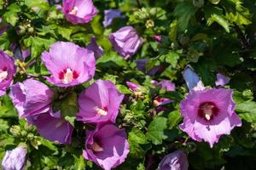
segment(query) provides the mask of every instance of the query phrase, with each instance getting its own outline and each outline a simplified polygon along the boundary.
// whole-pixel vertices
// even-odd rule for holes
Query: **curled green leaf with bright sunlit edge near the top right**
[[[211,26],[213,22],[217,22],[224,30],[230,32],[230,23],[224,18],[223,9],[207,6],[205,8],[205,16],[207,19],[207,26]]]

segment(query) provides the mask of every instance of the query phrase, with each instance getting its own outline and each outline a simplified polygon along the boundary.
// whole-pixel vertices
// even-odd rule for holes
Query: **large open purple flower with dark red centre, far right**
[[[183,115],[180,128],[192,139],[204,140],[212,147],[221,135],[241,126],[235,107],[231,89],[192,90],[180,104]]]

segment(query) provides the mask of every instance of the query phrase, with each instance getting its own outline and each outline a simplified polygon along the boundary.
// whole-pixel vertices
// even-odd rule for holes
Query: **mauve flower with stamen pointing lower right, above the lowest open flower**
[[[77,119],[83,122],[115,122],[124,99],[110,81],[97,80],[79,95]]]

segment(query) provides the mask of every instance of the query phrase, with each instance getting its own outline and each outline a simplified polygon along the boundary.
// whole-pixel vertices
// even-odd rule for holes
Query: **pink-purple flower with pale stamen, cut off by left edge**
[[[16,73],[15,60],[0,50],[0,96],[4,95],[7,88],[13,83]]]

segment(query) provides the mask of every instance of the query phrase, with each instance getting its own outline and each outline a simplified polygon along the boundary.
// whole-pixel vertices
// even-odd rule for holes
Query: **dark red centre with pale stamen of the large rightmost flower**
[[[214,116],[218,115],[218,107],[211,101],[203,102],[199,106],[198,115],[206,121],[211,121]]]

